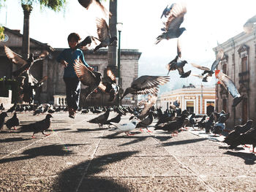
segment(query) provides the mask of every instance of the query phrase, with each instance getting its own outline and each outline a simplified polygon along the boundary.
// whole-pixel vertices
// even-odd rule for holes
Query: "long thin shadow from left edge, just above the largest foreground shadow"
[[[47,145],[41,147],[34,147],[29,150],[24,150],[21,156],[12,157],[12,158],[3,158],[0,159],[0,164],[4,164],[12,161],[20,161],[30,158],[36,158],[38,156],[64,156],[71,155],[72,150],[69,150],[69,147],[74,147],[78,145],[86,144],[64,144],[64,145]]]

